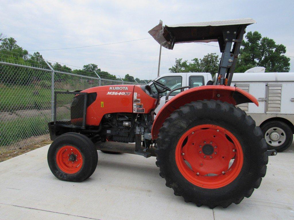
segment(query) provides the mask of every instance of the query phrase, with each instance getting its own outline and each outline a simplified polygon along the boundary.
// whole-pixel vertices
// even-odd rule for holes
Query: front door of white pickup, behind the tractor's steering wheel
[[[170,76],[163,76],[159,79],[156,79],[156,81],[167,85],[169,88],[171,89],[176,89],[182,86],[186,86],[186,74],[183,73],[172,73]],[[156,89],[153,85],[153,83],[150,85],[152,91],[154,93],[156,93]],[[176,90],[174,92],[172,92],[169,95],[169,99],[172,99],[176,94],[179,94],[181,91],[180,90]],[[155,109],[155,113],[157,114],[158,111],[162,108],[162,106],[165,104],[165,98],[166,98],[166,92],[165,93],[161,93],[161,98],[159,101],[159,105],[157,106],[157,108]],[[156,116],[155,116],[156,117]]]

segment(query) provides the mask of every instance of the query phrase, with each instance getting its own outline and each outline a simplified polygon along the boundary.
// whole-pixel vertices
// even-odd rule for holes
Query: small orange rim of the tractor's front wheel
[[[81,169],[83,157],[77,148],[66,145],[58,150],[56,163],[61,171],[73,174]]]

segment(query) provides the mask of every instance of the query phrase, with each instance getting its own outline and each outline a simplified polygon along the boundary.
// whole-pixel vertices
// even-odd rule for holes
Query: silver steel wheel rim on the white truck
[[[273,127],[265,132],[264,138],[270,146],[278,147],[285,143],[286,133],[282,128]]]

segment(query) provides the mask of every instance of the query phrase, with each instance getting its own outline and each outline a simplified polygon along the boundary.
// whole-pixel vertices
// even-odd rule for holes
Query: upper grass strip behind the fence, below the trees
[[[38,91],[39,94],[34,95],[34,91]],[[51,89],[35,86],[1,85],[0,87],[0,111],[49,109],[50,101]]]

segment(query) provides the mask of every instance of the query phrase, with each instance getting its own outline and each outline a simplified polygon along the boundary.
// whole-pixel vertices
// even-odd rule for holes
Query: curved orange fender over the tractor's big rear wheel
[[[170,99],[159,110],[152,125],[152,139],[155,140],[158,137],[159,129],[162,127],[163,122],[170,116],[171,113],[173,113],[173,111],[187,103],[191,103],[192,101],[204,99],[220,100],[233,105],[252,102],[258,106],[258,101],[253,95],[239,89],[238,87],[208,85],[187,89]]]

